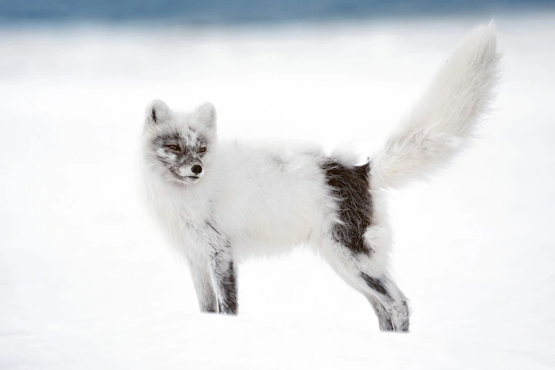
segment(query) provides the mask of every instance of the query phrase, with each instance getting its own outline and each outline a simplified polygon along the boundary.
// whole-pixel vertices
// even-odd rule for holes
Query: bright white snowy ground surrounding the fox
[[[241,266],[239,317],[199,314],[137,196],[151,99],[365,156],[475,22],[1,31],[0,368],[554,369],[555,15],[497,19],[483,138],[391,194],[409,335],[302,251]]]

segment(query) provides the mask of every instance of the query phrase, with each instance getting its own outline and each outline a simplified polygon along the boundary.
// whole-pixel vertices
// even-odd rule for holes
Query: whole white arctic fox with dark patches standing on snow
[[[148,203],[185,256],[201,312],[237,314],[237,264],[250,255],[314,249],[377,314],[409,330],[407,298],[388,270],[384,190],[425,179],[472,139],[497,81],[495,26],[469,33],[398,131],[364,165],[311,144],[216,141],[211,103],[146,110]]]

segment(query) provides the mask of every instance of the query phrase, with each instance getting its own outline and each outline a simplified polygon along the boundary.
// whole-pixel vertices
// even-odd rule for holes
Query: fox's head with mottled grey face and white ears
[[[197,183],[210,164],[216,136],[216,109],[204,103],[192,112],[173,112],[160,100],[146,108],[144,150],[148,166],[164,180]]]

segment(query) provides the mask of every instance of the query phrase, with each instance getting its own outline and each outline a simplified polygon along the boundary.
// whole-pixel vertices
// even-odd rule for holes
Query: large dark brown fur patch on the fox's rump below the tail
[[[354,253],[370,254],[372,250],[363,237],[372,220],[372,199],[368,191],[370,163],[348,167],[328,160],[321,167],[338,201],[341,224],[334,226],[335,239]]]

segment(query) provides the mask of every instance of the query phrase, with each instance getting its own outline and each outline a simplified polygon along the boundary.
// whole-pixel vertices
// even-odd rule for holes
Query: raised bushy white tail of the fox
[[[371,189],[425,179],[462,151],[493,100],[498,62],[495,25],[478,26],[373,157]]]

